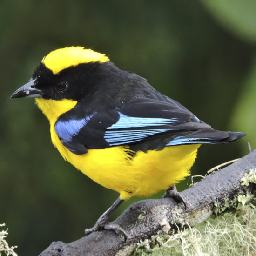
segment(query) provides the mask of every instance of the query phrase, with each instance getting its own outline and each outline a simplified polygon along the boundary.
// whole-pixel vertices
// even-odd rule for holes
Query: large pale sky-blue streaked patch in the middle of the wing
[[[180,122],[178,118],[148,118],[148,117],[133,117],[127,116],[120,112],[119,120],[108,127],[104,139],[109,143],[110,146],[116,146],[121,144],[128,144],[136,141],[141,141],[144,138],[163,133],[172,130],[170,126]],[[168,128],[147,128],[154,126],[169,126]],[[125,129],[129,128],[129,129]],[[144,128],[144,129],[130,129],[130,128]]]

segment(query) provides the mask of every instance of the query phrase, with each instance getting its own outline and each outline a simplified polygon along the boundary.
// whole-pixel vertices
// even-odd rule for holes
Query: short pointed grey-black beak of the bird
[[[32,97],[32,98],[41,98],[42,97],[42,91],[39,89],[36,89],[34,86],[34,80],[29,81],[22,87],[20,87],[18,90],[16,90],[10,99],[12,98],[24,98],[24,97]]]

